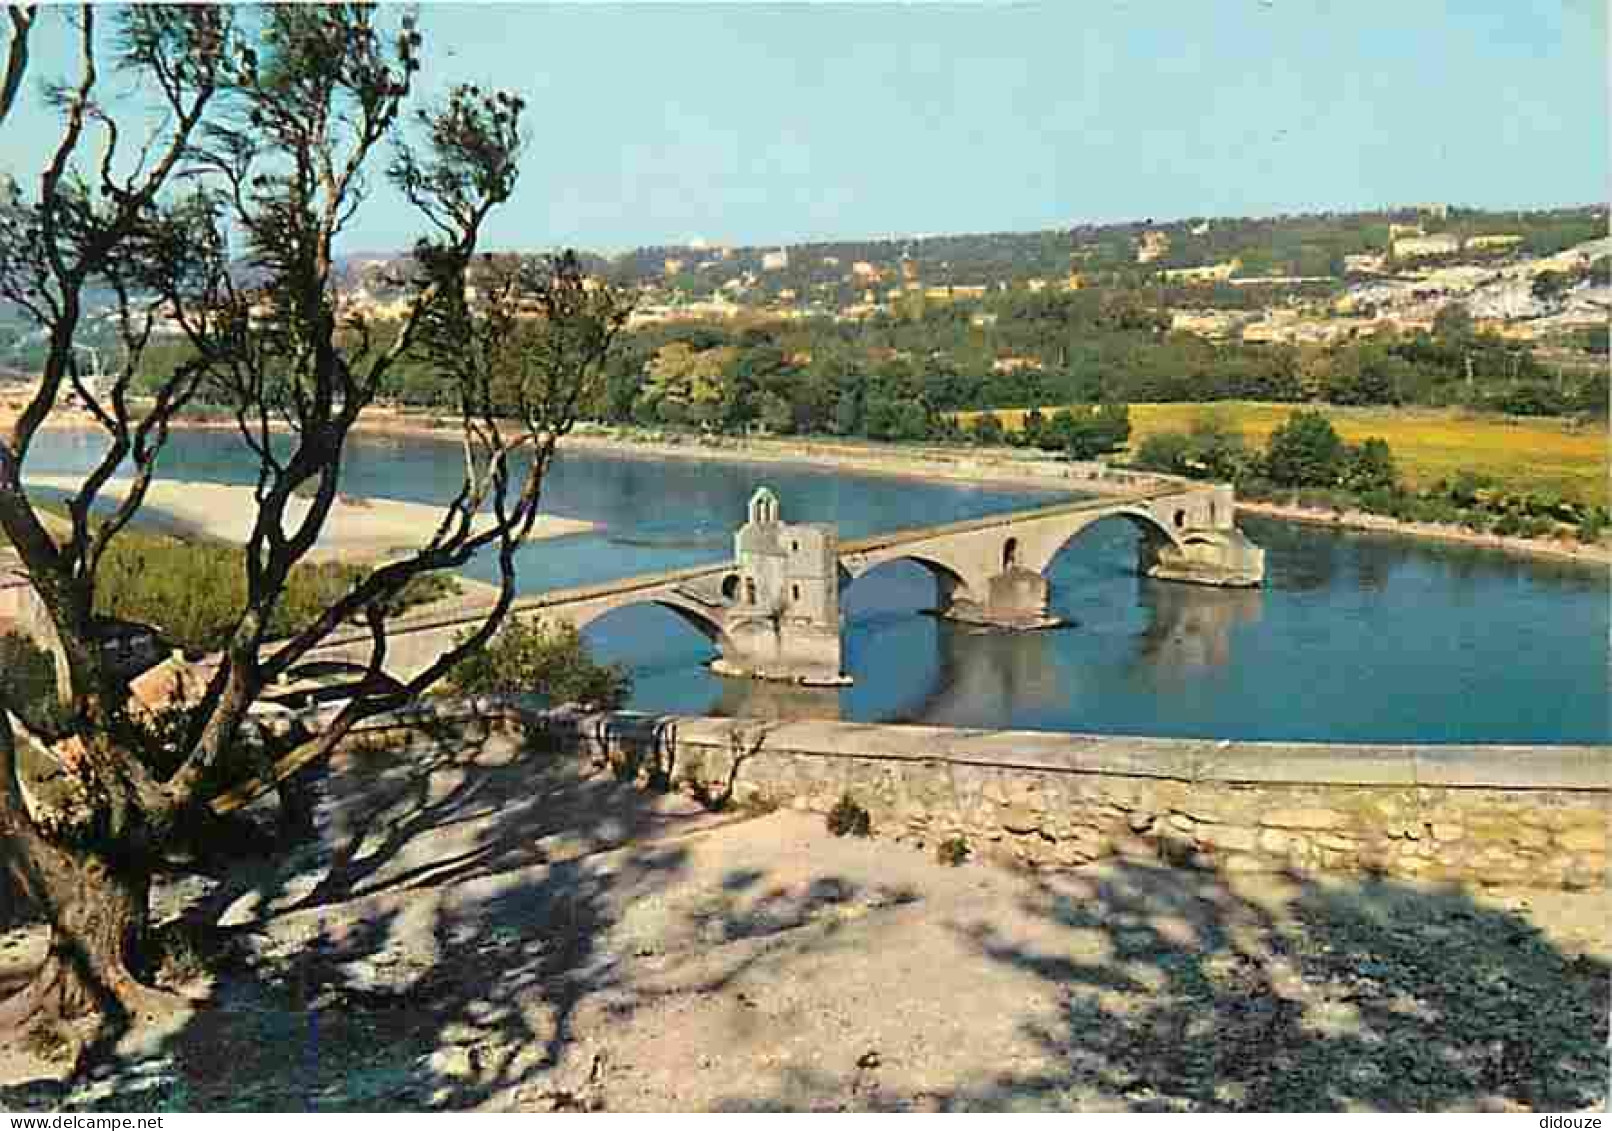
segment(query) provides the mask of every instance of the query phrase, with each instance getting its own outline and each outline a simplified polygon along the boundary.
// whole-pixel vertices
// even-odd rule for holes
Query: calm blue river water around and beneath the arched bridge
[[[87,437],[45,433],[29,470],[79,470]],[[174,437],[163,470],[250,482],[229,433]],[[430,440],[351,446],[353,495],[440,501],[456,448]],[[758,483],[783,517],[841,536],[1033,506],[1041,491],[845,475],[819,469],[564,454],[545,493],[555,514],[603,532],[522,551],[537,591],[725,559]],[[1001,635],[922,615],[933,582],[891,564],[845,593],[841,691],[722,680],[711,646],[654,607],[585,633],[627,662],[643,710],[825,715],[956,727],[1220,738],[1607,743],[1604,570],[1494,551],[1248,519],[1267,551],[1265,588],[1219,591],[1135,574],[1135,533],[1090,527],[1054,559],[1053,599],[1075,627]],[[488,570],[471,570],[490,575]]]

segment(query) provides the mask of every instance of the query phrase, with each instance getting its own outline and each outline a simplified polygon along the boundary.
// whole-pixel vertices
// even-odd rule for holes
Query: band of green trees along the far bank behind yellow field
[[[970,306],[917,319],[629,334],[588,417],[719,432],[927,438],[962,409],[1103,401],[1257,400],[1462,404],[1519,416],[1606,414],[1604,366],[1548,367],[1527,345],[1473,332],[1451,306],[1433,334],[1332,346],[1214,343],[1167,330],[1138,293],[1004,295],[995,324]],[[977,311],[974,311],[977,313]],[[448,388],[426,364],[395,367],[385,395],[435,406]]]

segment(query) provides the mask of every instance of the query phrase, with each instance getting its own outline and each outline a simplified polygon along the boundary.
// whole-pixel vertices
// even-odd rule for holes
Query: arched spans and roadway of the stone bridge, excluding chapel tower
[[[1046,612],[1041,574],[1085,527],[1122,517],[1143,533],[1141,569],[1156,577],[1209,585],[1257,585],[1264,553],[1233,525],[1230,487],[1169,487],[1124,496],[1070,499],[1049,506],[896,530],[838,543],[841,586],[891,561],[914,561],[937,582],[938,607],[959,619],[1035,627]],[[732,604],[735,562],[695,566],[596,585],[577,585],[519,598],[511,615],[542,617],[584,628],[632,604],[658,604],[680,615],[721,649]],[[1028,596],[1025,596],[1028,585]],[[1004,593],[1011,591],[1011,596]],[[392,622],[387,670],[409,678],[453,638],[480,624],[490,609],[477,601]],[[366,630],[340,632],[310,652],[310,661],[369,657]]]

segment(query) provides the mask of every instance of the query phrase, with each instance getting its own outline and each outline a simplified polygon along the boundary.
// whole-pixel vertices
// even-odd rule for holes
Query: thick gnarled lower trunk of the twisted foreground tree
[[[50,920],[50,951],[34,980],[0,1002],[0,1033],[39,1021],[134,1021],[174,999],[137,978],[150,918],[150,870],[29,830],[24,856]]]

